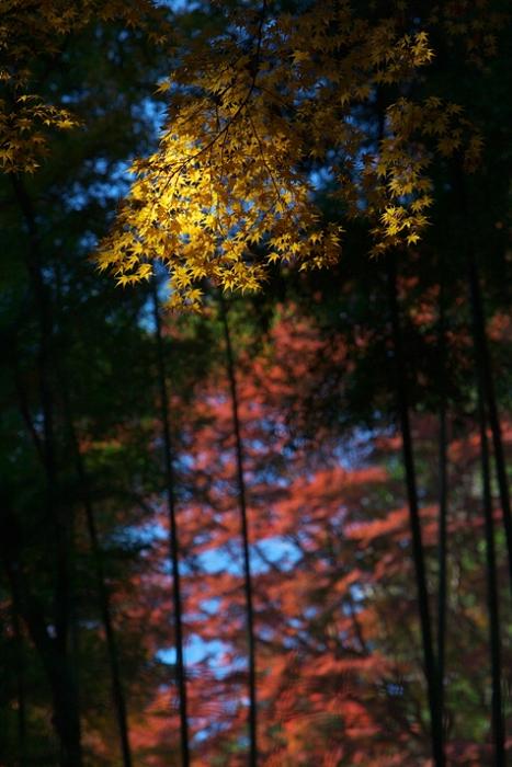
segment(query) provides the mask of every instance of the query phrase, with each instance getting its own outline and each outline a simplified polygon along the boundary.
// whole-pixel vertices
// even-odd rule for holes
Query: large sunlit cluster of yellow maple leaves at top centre
[[[244,9],[229,30],[160,85],[171,104],[160,146],[134,163],[98,256],[121,285],[163,262],[171,307],[198,308],[204,279],[255,290],[271,263],[338,259],[340,227],[322,224],[305,168],[312,160],[338,173],[330,156],[342,157],[338,181],[353,191],[345,171],[367,138],[354,107],[432,58],[423,32],[371,23],[348,2],[312,3],[298,16]]]

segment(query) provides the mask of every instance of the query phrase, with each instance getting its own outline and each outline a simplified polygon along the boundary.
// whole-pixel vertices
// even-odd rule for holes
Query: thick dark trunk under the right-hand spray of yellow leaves
[[[407,368],[403,355],[400,313],[398,308],[397,276],[394,253],[389,253],[387,255],[387,283],[391,316],[392,344],[395,353],[395,388],[397,397],[397,409],[400,419],[403,465],[406,469],[406,484],[409,505],[409,522],[411,529],[412,558],[414,562],[416,581],[418,588],[418,604],[420,611],[420,626],[423,645],[423,663],[431,720],[432,755],[435,767],[444,767],[445,758],[443,748],[442,720],[437,695],[439,676],[432,642],[432,623],[430,619],[429,595],[426,589],[426,574],[421,535],[421,518],[418,506],[414,458],[412,449],[411,428],[409,423],[409,402],[406,382]]]

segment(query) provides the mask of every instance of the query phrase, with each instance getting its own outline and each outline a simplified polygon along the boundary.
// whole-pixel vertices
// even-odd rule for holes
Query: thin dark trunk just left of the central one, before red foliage
[[[180,699],[180,741],[182,767],[190,765],[189,748],[189,717],[186,701],[186,677],[183,653],[183,618],[182,597],[180,582],[180,542],[178,535],[178,520],[175,512],[175,482],[173,450],[171,439],[171,424],[169,417],[169,393],[166,376],[166,357],[163,350],[162,323],[160,318],[160,306],[158,300],[158,287],[156,281],[152,283],[152,301],[155,333],[157,340],[157,375],[160,391],[160,419],[162,422],[163,436],[163,461],[166,473],[167,503],[169,511],[169,548],[172,572],[172,599],[174,608],[174,634],[177,648],[177,686]]]

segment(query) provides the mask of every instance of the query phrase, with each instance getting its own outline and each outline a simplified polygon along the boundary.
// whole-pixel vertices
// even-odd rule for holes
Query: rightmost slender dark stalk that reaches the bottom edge
[[[492,678],[492,737],[494,744],[496,767],[504,767],[504,728],[503,707],[501,700],[501,644],[500,644],[500,611],[498,600],[498,577],[496,569],[494,520],[492,516],[492,499],[490,482],[489,447],[487,444],[486,412],[483,392],[478,388],[478,421],[480,430],[481,477],[483,485],[483,519],[486,531],[486,564],[487,564],[487,607],[489,610],[489,642],[491,650]]]

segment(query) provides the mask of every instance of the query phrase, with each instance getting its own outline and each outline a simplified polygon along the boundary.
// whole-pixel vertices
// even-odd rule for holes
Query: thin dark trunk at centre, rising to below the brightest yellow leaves
[[[229,380],[231,399],[232,428],[235,433],[235,450],[237,458],[237,484],[238,501],[240,506],[241,539],[243,551],[243,589],[246,595],[247,617],[247,645],[249,655],[249,765],[258,764],[258,700],[257,700],[257,663],[255,663],[255,637],[254,637],[254,607],[253,587],[251,575],[251,559],[249,550],[249,524],[247,516],[247,491],[243,470],[243,447],[240,431],[240,409],[238,400],[237,377],[235,373],[235,359],[232,354],[231,335],[227,317],[226,305],[220,296],[220,314],[226,343],[226,368]]]

